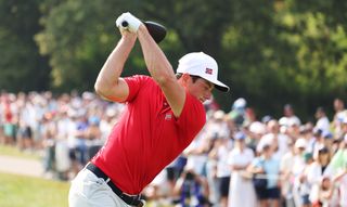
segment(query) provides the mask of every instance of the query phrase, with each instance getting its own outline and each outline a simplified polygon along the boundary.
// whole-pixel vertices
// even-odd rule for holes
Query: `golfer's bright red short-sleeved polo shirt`
[[[133,76],[126,81],[127,106],[92,163],[125,193],[139,194],[192,142],[206,115],[203,104],[187,93],[176,118],[151,77]]]

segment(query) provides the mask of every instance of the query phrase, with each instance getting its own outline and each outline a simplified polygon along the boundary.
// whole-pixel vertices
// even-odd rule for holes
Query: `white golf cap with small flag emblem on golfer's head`
[[[223,92],[229,91],[229,87],[217,79],[217,62],[204,52],[192,52],[182,56],[179,60],[177,73],[198,76],[214,83],[216,89]]]

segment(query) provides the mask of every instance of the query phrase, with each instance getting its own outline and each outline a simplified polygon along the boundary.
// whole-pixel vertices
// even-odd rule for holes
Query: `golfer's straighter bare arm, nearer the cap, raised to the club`
[[[143,24],[139,27],[138,38],[151,76],[162,88],[174,115],[179,117],[185,101],[183,87],[178,83],[171,64]]]

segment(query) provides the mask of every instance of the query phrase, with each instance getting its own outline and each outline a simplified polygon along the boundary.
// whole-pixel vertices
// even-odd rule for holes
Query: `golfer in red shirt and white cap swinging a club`
[[[211,56],[189,53],[180,59],[175,75],[140,20],[124,13],[116,23],[121,39],[103,65],[95,91],[125,103],[126,108],[105,145],[72,181],[69,207],[143,206],[141,191],[203,128],[203,102],[210,99],[214,88],[229,91],[218,81]],[[151,77],[121,78],[137,39]]]

